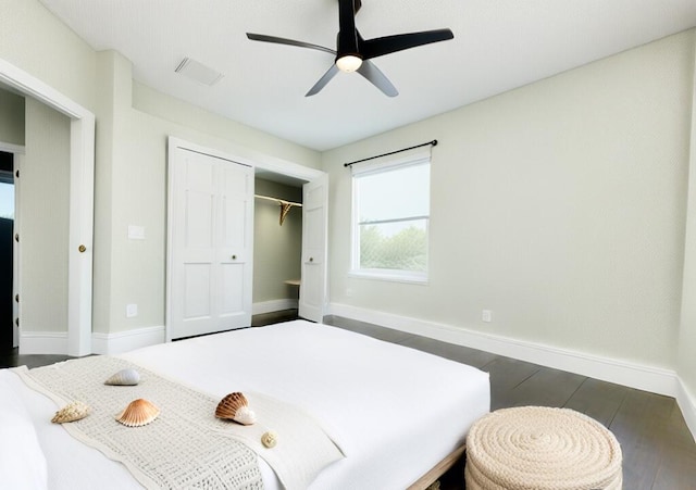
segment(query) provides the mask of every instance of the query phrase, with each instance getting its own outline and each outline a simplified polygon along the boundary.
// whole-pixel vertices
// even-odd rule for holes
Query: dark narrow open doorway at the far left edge
[[[14,325],[14,155],[0,151],[0,352],[15,347]]]

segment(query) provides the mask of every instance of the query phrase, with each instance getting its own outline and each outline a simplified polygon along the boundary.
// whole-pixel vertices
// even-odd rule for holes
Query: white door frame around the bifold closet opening
[[[249,165],[253,168],[260,168],[263,171],[272,172],[274,174],[286,175],[288,177],[294,177],[299,180],[304,180],[307,183],[316,180],[322,176],[326,176],[326,178],[328,178],[328,175],[326,172],[318,171],[316,168],[311,168],[295,162],[278,159],[276,156],[271,156],[260,152],[259,153],[254,152],[252,154],[249,154],[250,153],[249,150],[239,149],[239,150],[236,150],[234,153],[231,153],[227,151],[221,151],[213,148],[203,147],[201,145],[197,145],[174,136],[170,136],[167,138],[167,203],[166,203],[167,231],[166,231],[166,269],[165,269],[166,304],[165,304],[165,318],[164,318],[165,332],[166,332],[165,338],[167,342],[172,340],[172,337],[171,337],[172,335],[171,334],[171,322],[172,322],[172,285],[171,285],[172,256],[171,255],[172,254],[170,251],[170,243],[172,243],[172,235],[171,235],[172,226],[170,225],[169,219],[171,219],[171,216],[173,215],[173,202],[172,202],[172,192],[171,192],[172,172],[169,171],[169,168],[171,168],[169,159],[172,158],[176,148],[182,148],[189,151],[204,153],[204,154],[209,154],[211,156],[217,156],[224,160],[231,160],[233,162],[238,162],[244,165]],[[247,154],[247,156],[244,156],[241,153]],[[328,193],[326,193],[326,202],[324,204],[328,205]],[[326,230],[324,239],[326,241],[328,240],[328,230]],[[326,296],[326,291],[324,291],[324,296]],[[326,300],[327,298],[324,298],[324,303],[326,303]]]

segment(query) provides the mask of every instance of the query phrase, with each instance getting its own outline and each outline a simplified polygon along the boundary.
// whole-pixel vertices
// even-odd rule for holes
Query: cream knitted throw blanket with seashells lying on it
[[[114,373],[133,367],[137,386],[107,386]],[[91,356],[15,372],[59,407],[80,401],[91,407],[82,420],[63,424],[76,439],[123,463],[146,488],[262,489],[257,455],[286,489],[304,489],[340,450],[311,416],[270,397],[245,392],[257,423],[241,426],[215,418],[219,399],[109,356]],[[142,427],[126,427],[115,416],[133,400],[160,409]],[[277,444],[261,436],[273,430]]]

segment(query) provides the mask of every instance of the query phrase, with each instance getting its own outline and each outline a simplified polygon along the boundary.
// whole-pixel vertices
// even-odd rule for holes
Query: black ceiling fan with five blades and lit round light
[[[450,29],[435,29],[363,39],[356,28],[356,14],[361,7],[361,0],[338,0],[336,50],[309,42],[266,36],[264,34],[247,33],[247,37],[253,41],[315,49],[335,56],[334,64],[331,65],[328,71],[314,84],[304,97],[319,93],[339,71],[347,73],[358,72],[386,96],[396,97],[399,95],[396,87],[391,85],[389,79],[370,60],[396,51],[430,45],[431,42],[446,41],[455,37]]]

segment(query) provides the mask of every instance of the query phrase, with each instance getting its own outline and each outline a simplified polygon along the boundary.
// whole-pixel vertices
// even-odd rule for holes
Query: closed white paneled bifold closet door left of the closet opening
[[[170,159],[171,339],[251,324],[253,168],[184,148]]]

